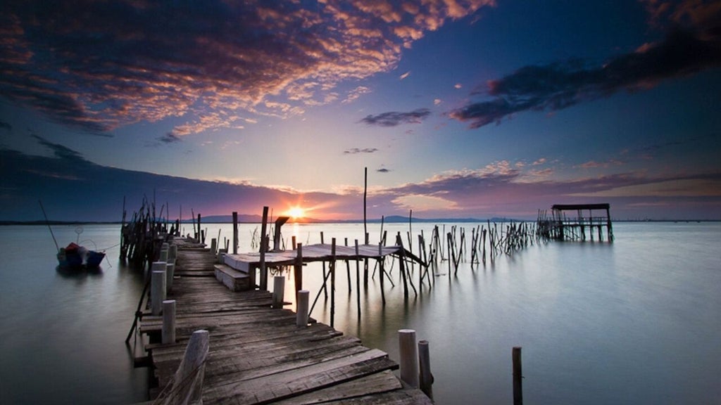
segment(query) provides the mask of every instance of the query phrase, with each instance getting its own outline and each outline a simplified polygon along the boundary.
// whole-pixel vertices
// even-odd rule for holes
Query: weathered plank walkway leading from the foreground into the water
[[[403,386],[385,352],[324,324],[298,328],[293,311],[271,308],[267,291],[226,288],[214,275],[215,259],[208,249],[179,249],[168,293],[177,305],[177,343],[146,345],[154,395],[172,381],[190,334],[205,329],[203,404],[432,404]],[[143,316],[141,333],[161,329],[161,317]]]

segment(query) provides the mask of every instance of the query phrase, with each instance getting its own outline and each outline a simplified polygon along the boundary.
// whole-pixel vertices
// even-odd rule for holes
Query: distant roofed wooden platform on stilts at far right
[[[595,231],[598,241],[603,241],[603,228],[606,228],[606,239],[614,241],[609,204],[555,204],[551,210],[551,218],[545,212],[539,212],[537,221],[539,233],[549,239],[593,241]],[[569,211],[575,215],[567,214]],[[601,214],[598,214],[599,211]]]

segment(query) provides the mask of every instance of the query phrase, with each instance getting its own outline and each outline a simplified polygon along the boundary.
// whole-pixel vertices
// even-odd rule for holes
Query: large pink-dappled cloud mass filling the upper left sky
[[[234,128],[239,110],[288,117],[332,102],[341,82],[392,71],[425,32],[493,4],[11,1],[0,94],[89,133],[169,117],[187,120],[178,136]]]

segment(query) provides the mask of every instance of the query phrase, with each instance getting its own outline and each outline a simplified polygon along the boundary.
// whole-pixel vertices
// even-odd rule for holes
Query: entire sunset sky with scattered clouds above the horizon
[[[721,220],[721,1],[39,1],[0,15],[0,221]],[[366,180],[367,171],[367,180]]]

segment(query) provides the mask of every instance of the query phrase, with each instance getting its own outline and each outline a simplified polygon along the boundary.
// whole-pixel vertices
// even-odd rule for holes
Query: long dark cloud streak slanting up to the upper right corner
[[[685,9],[679,6],[678,10]],[[473,93],[487,94],[490,99],[471,102],[448,115],[480,128],[501,123],[518,112],[562,110],[622,90],[650,89],[665,79],[717,68],[721,66],[721,31],[717,28],[721,7],[709,6],[704,11],[711,14],[689,18],[690,26],[676,25],[659,43],[644,44],[603,66],[588,66],[579,60],[524,66]]]

